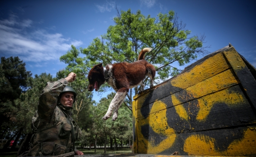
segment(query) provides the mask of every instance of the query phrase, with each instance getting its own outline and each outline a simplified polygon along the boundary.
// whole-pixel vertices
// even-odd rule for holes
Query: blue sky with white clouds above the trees
[[[256,67],[255,0],[1,0],[0,57],[18,56],[33,76],[55,77],[66,67],[60,56],[71,45],[86,48],[105,34],[114,25],[116,8],[151,17],[173,10],[191,31],[189,37],[205,35],[209,52],[231,43]]]

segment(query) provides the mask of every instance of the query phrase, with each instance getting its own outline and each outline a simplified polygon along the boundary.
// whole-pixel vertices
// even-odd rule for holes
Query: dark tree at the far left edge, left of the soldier
[[[20,130],[16,128],[16,112],[18,106],[15,100],[27,89],[27,80],[31,77],[30,71],[26,71],[25,63],[18,57],[1,57],[0,63],[0,138],[7,130]],[[13,129],[10,129],[13,128]],[[9,143],[8,143],[9,144]]]

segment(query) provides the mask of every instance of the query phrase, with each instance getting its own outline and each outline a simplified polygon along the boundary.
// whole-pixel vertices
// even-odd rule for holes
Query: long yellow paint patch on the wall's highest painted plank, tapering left
[[[214,75],[230,68],[222,53],[218,53],[203,63],[196,65],[188,72],[182,73],[172,79],[170,82],[173,86],[186,89],[194,84],[197,84],[205,79],[213,77]]]

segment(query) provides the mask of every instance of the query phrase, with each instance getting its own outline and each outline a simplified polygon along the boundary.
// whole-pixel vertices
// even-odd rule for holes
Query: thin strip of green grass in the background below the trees
[[[94,153],[94,149],[92,150],[80,150],[85,155],[95,155],[95,154],[104,154],[104,149],[96,149],[96,153]],[[129,148],[118,148],[118,150],[111,150],[107,149],[106,154],[125,154],[125,153],[132,153],[132,150]],[[0,152],[0,157],[16,157],[17,152]]]

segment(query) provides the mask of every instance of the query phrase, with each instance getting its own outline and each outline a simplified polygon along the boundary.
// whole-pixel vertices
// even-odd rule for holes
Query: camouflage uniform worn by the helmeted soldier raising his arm
[[[47,86],[39,97],[38,110],[32,118],[34,134],[31,137],[31,149],[27,156],[60,155],[73,152],[72,127],[66,117],[73,124],[75,140],[77,140],[79,127],[71,118],[71,111],[57,105],[60,103],[58,96],[66,85],[68,85],[66,79],[47,82]]]

